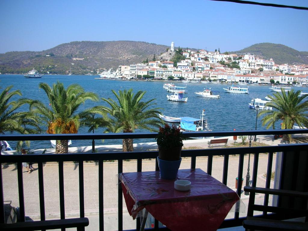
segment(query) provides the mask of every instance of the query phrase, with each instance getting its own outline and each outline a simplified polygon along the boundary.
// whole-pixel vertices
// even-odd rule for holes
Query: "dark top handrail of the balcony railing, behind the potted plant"
[[[242,130],[242,131],[211,131],[211,132],[184,132],[186,137],[212,137],[212,136],[248,136],[252,135],[280,135],[280,134],[307,134],[308,129],[268,129],[268,130]],[[76,134],[2,134],[0,140],[109,140],[109,139],[144,139],[155,138],[156,132],[132,133],[76,133]],[[26,138],[25,138],[26,137]],[[65,137],[65,138],[63,138]],[[86,139],[85,139],[86,137]]]

